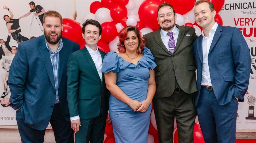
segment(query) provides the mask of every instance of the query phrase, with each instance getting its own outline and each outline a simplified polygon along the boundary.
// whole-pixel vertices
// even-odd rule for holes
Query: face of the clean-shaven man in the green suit
[[[85,33],[83,33],[83,38],[85,39],[86,45],[90,47],[96,46],[98,41],[101,39],[99,28],[91,24],[86,25]]]

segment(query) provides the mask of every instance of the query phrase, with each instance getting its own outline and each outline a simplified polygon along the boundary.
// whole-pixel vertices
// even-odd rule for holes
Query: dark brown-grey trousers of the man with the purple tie
[[[166,98],[153,98],[153,107],[159,142],[173,142],[174,116],[176,117],[179,143],[193,143],[196,119],[194,94],[181,91]]]

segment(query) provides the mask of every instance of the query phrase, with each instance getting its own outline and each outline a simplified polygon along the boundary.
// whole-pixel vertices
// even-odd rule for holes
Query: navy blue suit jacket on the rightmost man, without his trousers
[[[192,52],[197,68],[197,105],[202,81],[202,35],[194,41]],[[243,101],[249,84],[250,60],[249,48],[241,31],[218,25],[209,50],[208,64],[213,92],[219,105],[230,102],[232,96]]]

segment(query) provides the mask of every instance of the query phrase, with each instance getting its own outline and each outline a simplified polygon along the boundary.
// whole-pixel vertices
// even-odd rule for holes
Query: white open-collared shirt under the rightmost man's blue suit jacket
[[[215,22],[212,29],[209,31],[209,37],[204,36],[204,31],[202,31],[202,51],[203,51],[203,69],[202,69],[202,84],[201,85],[208,85],[212,86],[211,82],[211,76],[210,76],[210,70],[208,65],[208,54],[209,50],[212,44],[213,36],[216,32],[216,29],[218,27],[217,22]]]

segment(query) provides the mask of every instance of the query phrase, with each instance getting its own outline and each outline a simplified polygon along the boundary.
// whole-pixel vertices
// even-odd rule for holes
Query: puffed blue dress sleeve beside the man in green
[[[119,72],[119,58],[115,52],[109,52],[103,59],[102,62],[102,73],[108,72],[118,73]]]

